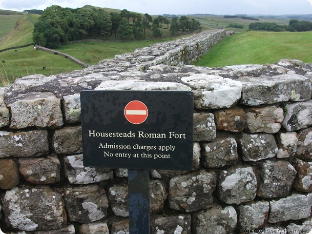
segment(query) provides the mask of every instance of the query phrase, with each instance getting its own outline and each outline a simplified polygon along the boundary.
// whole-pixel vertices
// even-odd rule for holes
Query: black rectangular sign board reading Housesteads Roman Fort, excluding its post
[[[191,170],[193,93],[82,91],[85,167]]]

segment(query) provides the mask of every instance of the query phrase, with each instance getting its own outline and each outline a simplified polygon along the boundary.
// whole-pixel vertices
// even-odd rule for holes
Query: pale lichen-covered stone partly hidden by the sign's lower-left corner
[[[83,155],[65,156],[64,165],[70,184],[90,184],[113,178],[112,169],[84,167]]]

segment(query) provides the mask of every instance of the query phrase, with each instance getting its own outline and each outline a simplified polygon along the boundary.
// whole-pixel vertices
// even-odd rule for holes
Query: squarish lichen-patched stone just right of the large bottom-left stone
[[[98,185],[65,188],[64,200],[71,222],[95,222],[107,215],[108,199],[104,189]]]

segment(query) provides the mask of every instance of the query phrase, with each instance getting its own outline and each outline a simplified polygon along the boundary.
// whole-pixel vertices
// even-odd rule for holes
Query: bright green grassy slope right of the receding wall
[[[312,31],[244,32],[226,37],[200,59],[197,66],[223,67],[235,64],[276,63],[299,59],[312,63]]]

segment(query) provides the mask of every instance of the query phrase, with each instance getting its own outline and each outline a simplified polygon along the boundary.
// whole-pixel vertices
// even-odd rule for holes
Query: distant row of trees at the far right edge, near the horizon
[[[290,31],[290,32],[304,32],[312,30],[312,22],[306,20],[290,20],[288,25],[279,25],[276,23],[250,23],[250,30],[266,30],[272,32],[282,32],[282,31]]]

